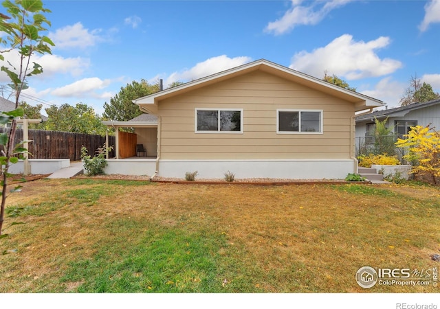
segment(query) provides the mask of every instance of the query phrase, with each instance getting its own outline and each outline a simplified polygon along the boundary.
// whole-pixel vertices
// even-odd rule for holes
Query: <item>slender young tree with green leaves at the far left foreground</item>
[[[5,124],[11,123],[11,128],[8,133],[0,135],[0,144],[4,147],[1,163],[1,207],[0,207],[0,235],[3,228],[3,218],[5,214],[6,193],[8,188],[8,173],[10,163],[16,163],[17,157],[22,156],[27,150],[15,145],[15,133],[17,130],[17,117],[23,117],[23,109],[19,108],[20,95],[23,89],[28,88],[27,80],[29,77],[43,72],[43,67],[36,62],[30,60],[32,54],[51,54],[51,47],[54,43],[47,36],[41,35],[47,29],[45,25],[50,25],[47,21],[45,13],[50,12],[43,8],[41,0],[15,0],[14,3],[5,0],[2,3],[3,8],[6,9],[6,14],[0,14],[0,36],[1,45],[6,46],[5,50],[0,53],[0,60],[5,61],[3,54],[10,54],[12,51],[18,53],[18,65],[15,61],[8,60],[8,65],[2,65],[3,71],[10,80],[10,87],[14,89],[15,93],[15,110],[2,113],[0,115],[0,122]]]

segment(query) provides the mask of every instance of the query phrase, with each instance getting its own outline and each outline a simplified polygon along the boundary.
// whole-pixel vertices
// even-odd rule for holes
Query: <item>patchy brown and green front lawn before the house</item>
[[[0,292],[438,292],[366,290],[355,273],[438,267],[439,197],[410,184],[33,181],[8,198]]]

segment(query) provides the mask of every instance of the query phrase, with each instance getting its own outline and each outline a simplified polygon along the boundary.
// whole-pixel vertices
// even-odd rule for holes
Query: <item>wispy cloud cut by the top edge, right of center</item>
[[[272,21],[265,27],[265,32],[276,35],[293,30],[296,25],[316,25],[331,12],[353,0],[313,1],[309,5],[300,5],[303,1],[292,0],[292,8],[287,10],[281,19]],[[323,4],[324,3],[324,4]],[[323,4],[323,5],[322,5]]]

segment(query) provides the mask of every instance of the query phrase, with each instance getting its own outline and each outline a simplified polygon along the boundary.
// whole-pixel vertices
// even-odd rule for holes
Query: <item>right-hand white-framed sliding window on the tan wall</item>
[[[322,111],[277,110],[276,133],[322,133]]]

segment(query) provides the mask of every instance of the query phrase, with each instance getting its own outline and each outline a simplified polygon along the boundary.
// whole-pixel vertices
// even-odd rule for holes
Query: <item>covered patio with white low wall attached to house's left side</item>
[[[115,128],[115,157],[107,158],[106,174],[130,174],[153,176],[157,168],[157,117],[142,114],[126,122],[102,122]],[[134,133],[120,128],[133,128]],[[142,145],[145,152],[138,152]]]

